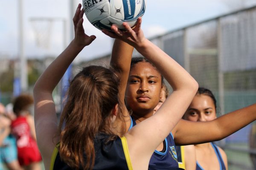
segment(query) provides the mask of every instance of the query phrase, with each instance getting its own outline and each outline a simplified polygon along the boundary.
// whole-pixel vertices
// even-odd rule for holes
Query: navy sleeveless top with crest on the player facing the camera
[[[135,119],[131,116],[131,127],[136,125]],[[129,129],[129,130],[130,130]],[[163,151],[155,150],[149,161],[148,170],[183,170],[179,168],[175,142],[170,133],[164,140]]]

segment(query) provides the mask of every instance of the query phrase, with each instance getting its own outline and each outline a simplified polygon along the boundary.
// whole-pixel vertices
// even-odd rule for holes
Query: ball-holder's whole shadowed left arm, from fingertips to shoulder
[[[79,4],[73,18],[75,38],[70,45],[49,65],[34,87],[35,132],[38,147],[45,165],[49,165],[52,150],[58,142],[58,126],[52,91],[61,80],[68,66],[77,54],[96,37],[84,34],[83,14]],[[47,161],[47,162],[46,162]]]

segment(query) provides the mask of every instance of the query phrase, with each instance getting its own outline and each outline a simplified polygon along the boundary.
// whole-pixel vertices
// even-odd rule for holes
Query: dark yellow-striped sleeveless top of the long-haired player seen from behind
[[[93,170],[132,170],[126,138],[124,136],[122,138],[118,137],[107,144],[105,144],[105,139],[108,139],[108,135],[101,134],[94,141],[96,155]],[[58,146],[59,144],[53,150],[49,170],[73,170],[61,160]],[[80,170],[82,170],[82,167]]]

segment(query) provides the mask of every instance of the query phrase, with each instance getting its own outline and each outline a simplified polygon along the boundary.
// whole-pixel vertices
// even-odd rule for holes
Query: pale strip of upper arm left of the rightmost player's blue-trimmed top
[[[195,146],[193,144],[184,146],[184,159],[185,159],[186,170],[195,170],[196,156],[195,156]]]

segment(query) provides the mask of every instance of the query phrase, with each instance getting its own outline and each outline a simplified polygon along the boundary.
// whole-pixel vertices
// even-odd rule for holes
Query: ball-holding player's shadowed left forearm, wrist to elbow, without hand
[[[70,42],[68,47],[48,66],[44,73],[39,77],[35,84],[34,92],[52,92],[65,71],[76,58],[82,46],[76,45],[74,41]]]

